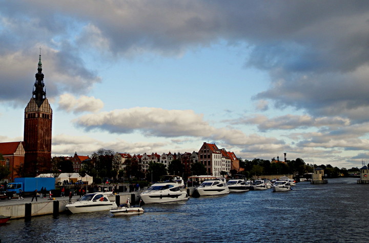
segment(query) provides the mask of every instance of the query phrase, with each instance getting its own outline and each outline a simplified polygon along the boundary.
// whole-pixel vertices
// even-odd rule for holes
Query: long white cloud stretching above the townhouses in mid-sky
[[[87,114],[75,120],[85,130],[100,129],[110,133],[141,131],[148,136],[209,136],[215,129],[191,110],[164,110],[135,107]]]

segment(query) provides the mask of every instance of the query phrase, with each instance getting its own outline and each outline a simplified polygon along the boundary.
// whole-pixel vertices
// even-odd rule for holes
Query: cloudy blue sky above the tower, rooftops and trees
[[[0,142],[23,140],[41,52],[52,156],[207,142],[249,160],[367,164],[367,1],[0,4]]]

